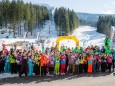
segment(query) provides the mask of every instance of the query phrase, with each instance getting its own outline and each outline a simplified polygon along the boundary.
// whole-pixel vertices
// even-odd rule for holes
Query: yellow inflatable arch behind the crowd
[[[73,41],[76,42],[76,47],[80,48],[79,40],[75,36],[60,36],[56,40],[56,47],[57,47],[57,49],[60,48],[60,41],[61,40],[73,40]]]

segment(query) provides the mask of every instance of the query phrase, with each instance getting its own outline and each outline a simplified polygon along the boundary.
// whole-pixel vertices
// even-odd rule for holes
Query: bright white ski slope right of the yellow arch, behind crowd
[[[97,45],[103,46],[105,35],[96,32],[95,27],[80,26],[72,35],[76,36],[80,40],[81,46]]]

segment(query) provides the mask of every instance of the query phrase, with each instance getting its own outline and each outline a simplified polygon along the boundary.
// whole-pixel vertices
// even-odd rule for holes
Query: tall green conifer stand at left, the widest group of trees
[[[23,0],[2,0],[0,2],[0,25],[12,26],[13,34],[21,35],[21,25],[24,24],[24,30],[31,32],[35,27],[43,26],[45,20],[49,20],[49,11],[47,7],[30,3],[24,3]]]

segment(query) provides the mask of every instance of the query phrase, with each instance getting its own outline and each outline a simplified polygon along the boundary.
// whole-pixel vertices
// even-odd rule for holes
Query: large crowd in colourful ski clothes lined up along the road
[[[105,39],[106,40],[106,39]],[[83,49],[69,49],[62,46],[60,50],[47,48],[37,51],[33,47],[26,50],[6,47],[0,51],[0,73],[18,73],[25,76],[71,75],[82,73],[112,72],[115,67],[115,50],[110,49],[105,41],[105,48],[88,46]]]

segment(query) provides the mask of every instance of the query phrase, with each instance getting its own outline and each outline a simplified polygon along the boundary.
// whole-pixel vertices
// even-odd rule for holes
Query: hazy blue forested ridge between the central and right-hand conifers
[[[96,23],[98,21],[99,16],[108,16],[109,14],[91,14],[91,13],[76,13],[79,22],[81,25],[90,25],[90,26],[96,26]],[[112,14],[110,16],[115,16],[115,14]]]

